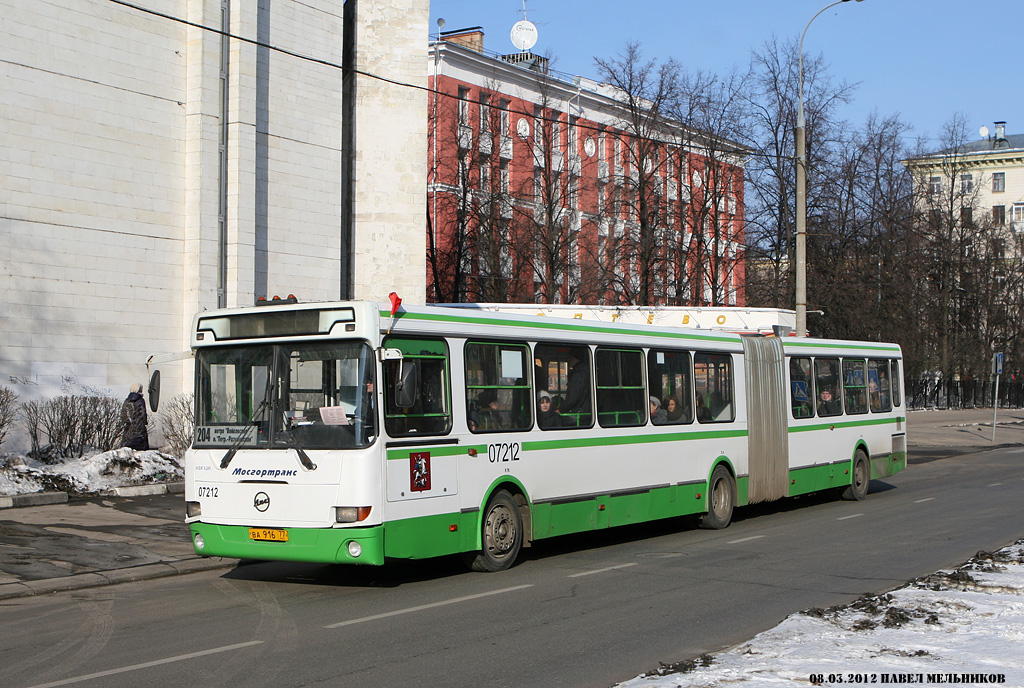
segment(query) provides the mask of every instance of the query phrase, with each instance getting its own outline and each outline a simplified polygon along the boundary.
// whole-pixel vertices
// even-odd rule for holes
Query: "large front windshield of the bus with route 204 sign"
[[[209,348],[196,364],[197,448],[359,448],[377,435],[364,342]]]

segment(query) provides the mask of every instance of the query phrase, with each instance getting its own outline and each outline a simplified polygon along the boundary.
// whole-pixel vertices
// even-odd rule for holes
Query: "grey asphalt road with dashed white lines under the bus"
[[[605,688],[1014,542],[1022,486],[1024,447],[1002,447],[913,465],[860,503],[544,542],[498,574],[253,563],[11,599],[0,685]]]

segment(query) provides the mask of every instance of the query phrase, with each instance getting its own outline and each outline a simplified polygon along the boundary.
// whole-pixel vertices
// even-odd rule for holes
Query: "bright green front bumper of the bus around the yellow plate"
[[[384,526],[286,528],[287,542],[261,542],[244,525],[191,523],[193,548],[204,557],[308,561],[325,564],[384,563]],[[200,547],[202,544],[202,547]]]

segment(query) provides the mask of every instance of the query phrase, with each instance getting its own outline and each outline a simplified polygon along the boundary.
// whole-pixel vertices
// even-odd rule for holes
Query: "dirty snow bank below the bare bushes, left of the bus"
[[[177,458],[128,447],[46,464],[22,456],[0,457],[0,497],[39,491],[99,494],[126,485],[183,478]]]

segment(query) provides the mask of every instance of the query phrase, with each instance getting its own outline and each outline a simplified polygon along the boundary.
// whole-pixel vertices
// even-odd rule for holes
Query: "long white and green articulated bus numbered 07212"
[[[364,302],[196,316],[201,555],[512,565],[543,538],[906,466],[894,344]]]

